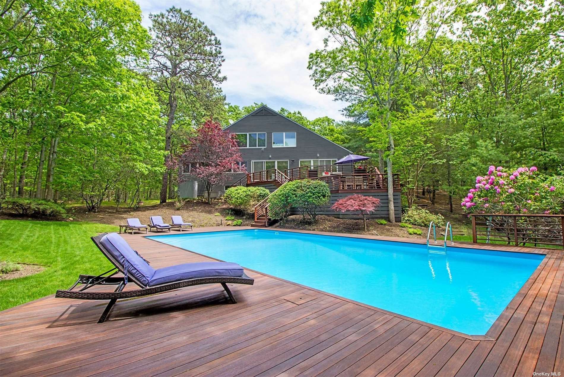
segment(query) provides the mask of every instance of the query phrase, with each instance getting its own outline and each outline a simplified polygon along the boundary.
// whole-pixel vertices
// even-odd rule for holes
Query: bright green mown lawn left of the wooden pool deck
[[[96,275],[112,268],[90,237],[117,230],[96,223],[0,220],[0,261],[45,267],[31,276],[0,281],[0,310],[67,289],[81,273]]]

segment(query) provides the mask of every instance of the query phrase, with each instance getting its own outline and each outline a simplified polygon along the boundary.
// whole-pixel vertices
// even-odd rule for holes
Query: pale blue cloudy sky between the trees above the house
[[[225,61],[222,84],[233,105],[266,103],[279,110],[299,110],[310,119],[345,119],[345,103],[316,91],[309,78],[310,52],[323,48],[323,30],[311,25],[318,15],[317,0],[137,0],[143,24],[149,14],[171,6],[190,10],[222,43]]]

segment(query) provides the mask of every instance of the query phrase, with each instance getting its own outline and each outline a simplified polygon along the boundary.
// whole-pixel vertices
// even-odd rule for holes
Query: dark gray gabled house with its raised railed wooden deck
[[[246,167],[247,172],[228,173],[229,178],[214,188],[213,196],[221,196],[232,185],[260,185],[272,192],[287,180],[322,179],[331,188],[331,204],[355,193],[374,196],[380,199],[381,205],[369,217],[387,218],[386,176],[374,167],[333,165],[338,159],[352,153],[341,145],[266,106],[233,122],[226,130],[236,135],[243,157],[241,165]],[[189,174],[188,171],[184,173]],[[181,196],[186,196],[183,192],[188,192],[187,185],[190,183],[180,185]],[[400,188],[395,175],[394,188],[395,217],[399,220]],[[205,194],[202,184],[198,185],[197,194]],[[329,207],[322,214],[341,218],[359,216],[334,212]],[[267,223],[266,219],[263,220]]]

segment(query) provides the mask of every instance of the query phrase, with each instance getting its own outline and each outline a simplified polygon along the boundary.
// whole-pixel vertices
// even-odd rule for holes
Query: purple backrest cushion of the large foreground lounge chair
[[[125,266],[125,259],[127,258],[127,274],[134,276],[144,285],[148,285],[155,274],[155,269],[141,258],[135,250],[131,249],[125,239],[117,233],[109,233],[100,239],[100,243],[122,265],[122,268]]]

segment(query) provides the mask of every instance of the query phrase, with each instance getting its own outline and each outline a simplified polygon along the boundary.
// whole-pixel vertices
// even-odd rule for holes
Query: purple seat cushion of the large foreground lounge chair
[[[155,271],[149,286],[187,280],[198,277],[243,276],[243,267],[229,262],[196,262],[159,268]]]

